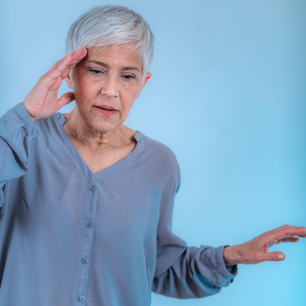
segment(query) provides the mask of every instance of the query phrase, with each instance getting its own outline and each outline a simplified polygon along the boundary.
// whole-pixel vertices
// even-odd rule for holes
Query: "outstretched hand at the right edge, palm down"
[[[284,253],[269,252],[270,246],[281,242],[296,242],[306,238],[306,228],[284,225],[242,244],[225,247],[223,260],[227,266],[238,263],[253,264],[266,261],[279,262],[285,259]]]

